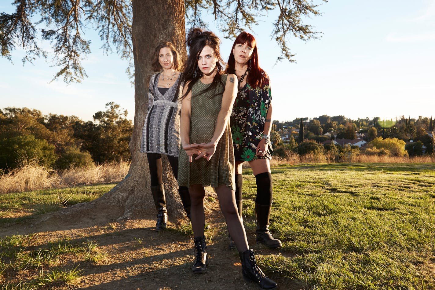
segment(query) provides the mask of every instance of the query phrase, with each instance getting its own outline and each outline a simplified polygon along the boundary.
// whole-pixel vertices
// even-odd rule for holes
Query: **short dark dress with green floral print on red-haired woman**
[[[230,118],[234,160],[236,162],[272,158],[273,151],[270,141],[268,142],[268,152],[264,156],[255,155],[261,134],[264,131],[271,99],[271,89],[267,76],[264,76],[261,88],[252,88],[247,83],[238,91]]]

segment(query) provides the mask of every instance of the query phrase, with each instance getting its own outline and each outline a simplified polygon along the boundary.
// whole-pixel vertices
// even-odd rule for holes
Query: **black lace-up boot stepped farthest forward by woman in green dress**
[[[278,284],[275,283],[274,280],[266,277],[263,271],[261,271],[260,267],[257,266],[255,254],[252,249],[239,252],[239,255],[242,263],[242,273],[244,280],[256,283],[261,289],[276,289]]]

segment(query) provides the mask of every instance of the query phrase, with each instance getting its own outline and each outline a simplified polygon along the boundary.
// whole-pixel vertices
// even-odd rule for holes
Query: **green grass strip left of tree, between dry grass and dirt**
[[[65,206],[88,202],[102,196],[113,187],[114,184],[100,184],[2,194],[0,224],[19,222],[34,215],[57,211]]]

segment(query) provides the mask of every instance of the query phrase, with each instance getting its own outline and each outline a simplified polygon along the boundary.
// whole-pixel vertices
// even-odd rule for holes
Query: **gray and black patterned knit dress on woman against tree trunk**
[[[142,128],[141,152],[161,153],[178,157],[180,150],[180,113],[178,98],[183,93],[180,76],[174,85],[161,94],[157,89],[160,74],[150,78],[148,112]]]

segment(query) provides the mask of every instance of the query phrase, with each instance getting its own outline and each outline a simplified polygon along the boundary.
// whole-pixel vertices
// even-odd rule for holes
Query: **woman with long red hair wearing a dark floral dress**
[[[257,183],[255,216],[256,241],[269,248],[282,246],[269,232],[272,207],[272,175],[270,160],[273,155],[271,132],[271,89],[269,77],[258,65],[255,37],[242,32],[234,40],[226,74],[236,74],[238,94],[234,101],[230,124],[234,145],[235,192],[239,215],[242,215],[242,164],[249,162]],[[231,240],[230,248],[234,249]]]

